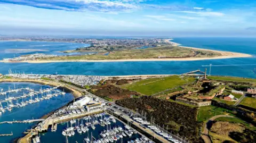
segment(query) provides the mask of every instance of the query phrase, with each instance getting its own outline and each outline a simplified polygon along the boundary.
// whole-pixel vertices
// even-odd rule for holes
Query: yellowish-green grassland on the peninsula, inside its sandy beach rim
[[[201,51],[198,49],[183,48],[177,46],[162,46],[146,49],[129,49],[123,51],[110,52],[108,55],[82,55],[82,56],[60,56],[42,58],[41,60],[125,60],[125,59],[147,59],[158,58],[186,58],[186,57],[214,57],[220,53],[211,51]]]

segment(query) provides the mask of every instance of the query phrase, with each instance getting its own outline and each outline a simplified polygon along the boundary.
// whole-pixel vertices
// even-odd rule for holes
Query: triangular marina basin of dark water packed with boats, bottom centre
[[[97,118],[99,123],[87,122],[89,119]],[[82,119],[71,120],[73,123],[63,122],[58,124],[58,129],[55,132],[39,133],[41,135],[41,142],[47,141],[47,137],[58,137],[54,142],[153,142],[147,137],[142,136],[136,130],[116,120],[114,117],[106,115],[105,113],[95,114],[93,116],[86,116]],[[107,122],[104,126],[100,122]]]

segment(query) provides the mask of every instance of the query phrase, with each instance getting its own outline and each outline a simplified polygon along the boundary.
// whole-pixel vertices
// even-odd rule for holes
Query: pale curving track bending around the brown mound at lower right
[[[204,131],[202,133],[202,138],[204,140],[205,143],[211,143],[211,138],[209,136],[209,130],[210,130],[210,127],[209,124],[211,124],[212,121],[214,121],[215,119],[219,118],[219,117],[234,117],[234,116],[230,116],[230,115],[217,115],[217,116],[213,116],[211,117],[207,123],[205,124],[205,127],[204,127]]]

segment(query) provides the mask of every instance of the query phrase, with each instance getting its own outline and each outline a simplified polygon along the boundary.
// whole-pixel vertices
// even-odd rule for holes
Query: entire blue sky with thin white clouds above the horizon
[[[256,37],[256,0],[0,0],[0,35]]]

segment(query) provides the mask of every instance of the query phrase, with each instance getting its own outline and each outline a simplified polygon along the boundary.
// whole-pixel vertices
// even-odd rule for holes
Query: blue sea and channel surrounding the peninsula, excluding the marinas
[[[174,42],[183,46],[198,48],[217,49],[221,51],[241,52],[256,55],[256,38],[174,38]],[[43,42],[44,43],[44,42]],[[27,44],[27,46],[26,46]],[[29,47],[41,45],[42,42],[9,41],[0,43],[1,52],[15,45]],[[60,45],[60,43],[48,43],[48,45]],[[74,45],[51,46],[50,51],[62,51],[63,49],[74,49]],[[74,44],[74,43],[72,43]],[[77,47],[81,45],[78,44]],[[38,52],[40,53],[40,52]],[[11,54],[12,55],[12,54]],[[0,54],[0,58],[10,54]],[[12,56],[13,57],[13,56]],[[202,65],[212,66],[211,74],[230,75],[239,77],[256,78],[256,58],[229,58],[221,60],[203,61],[164,61],[164,62],[63,62],[63,63],[0,63],[0,73],[7,74],[8,70],[22,71],[25,73],[47,73],[52,74],[81,74],[81,75],[138,75],[138,74],[181,74],[192,70],[201,69]],[[134,68],[135,67],[135,68]]]

